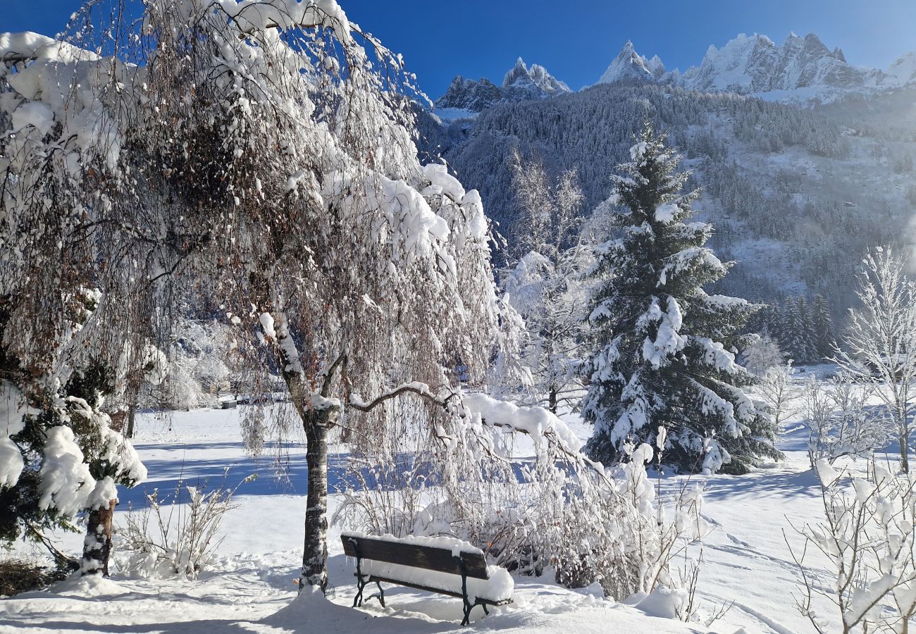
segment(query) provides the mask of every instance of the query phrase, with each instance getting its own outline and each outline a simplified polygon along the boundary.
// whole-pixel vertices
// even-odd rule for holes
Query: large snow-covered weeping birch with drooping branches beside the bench
[[[411,76],[333,0],[153,0],[141,13],[106,30],[87,5],[69,43],[5,36],[21,67],[7,78],[13,125],[79,150],[60,164],[92,202],[72,231],[110,227],[143,247],[124,266],[158,293],[147,316],[209,295],[245,360],[282,377],[291,418],[275,424],[297,421],[307,444],[301,581],[323,589],[329,432],[371,445],[393,402],[415,399],[453,443],[458,417],[434,394],[455,359],[485,372],[496,296],[480,197],[420,165]],[[23,200],[46,188],[29,178]],[[247,426],[254,450],[267,431]]]

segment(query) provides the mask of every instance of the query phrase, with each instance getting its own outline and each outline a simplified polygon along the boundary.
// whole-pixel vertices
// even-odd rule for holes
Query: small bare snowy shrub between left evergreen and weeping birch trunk
[[[234,488],[222,486],[208,491],[206,482],[197,486],[180,481],[167,497],[159,498],[158,489],[147,495],[148,507],[131,510],[118,531],[118,545],[130,553],[118,565],[132,576],[183,576],[196,579],[211,562],[219,546],[220,525],[229,510],[237,508],[233,496],[248,476]]]

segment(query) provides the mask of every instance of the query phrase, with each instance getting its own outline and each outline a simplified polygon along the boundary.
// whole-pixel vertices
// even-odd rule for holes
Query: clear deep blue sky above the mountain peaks
[[[0,31],[52,35],[80,0],[0,0]],[[777,43],[817,33],[852,64],[886,68],[916,50],[916,0],[341,0],[352,20],[404,54],[435,98],[454,75],[501,82],[518,56],[573,89],[594,83],[627,39],[668,68],[699,63],[738,33]]]

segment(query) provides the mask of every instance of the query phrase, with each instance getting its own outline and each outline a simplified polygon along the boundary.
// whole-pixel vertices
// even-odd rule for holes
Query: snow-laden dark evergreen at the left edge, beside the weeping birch
[[[71,326],[82,327],[96,303],[92,292],[72,297]],[[114,373],[88,362],[64,386],[32,377],[3,344],[9,326],[9,313],[0,308],[0,545],[25,538],[44,544],[59,567],[108,574],[117,486],[134,486],[147,474],[101,410]],[[88,519],[77,564],[47,533],[77,530],[81,514]]]

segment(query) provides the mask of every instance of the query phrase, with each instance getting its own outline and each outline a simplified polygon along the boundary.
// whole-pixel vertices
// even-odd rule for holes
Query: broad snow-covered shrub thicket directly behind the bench
[[[598,582],[618,599],[678,585],[673,559],[706,530],[702,493],[661,498],[646,471],[652,447],[630,447],[627,463],[605,469],[549,410],[459,398],[463,428],[442,430],[450,454],[419,437],[391,439],[416,451],[416,462],[367,460],[335,520],[374,533],[452,535],[519,574],[551,571],[572,587]],[[514,457],[532,450],[533,461]]]

